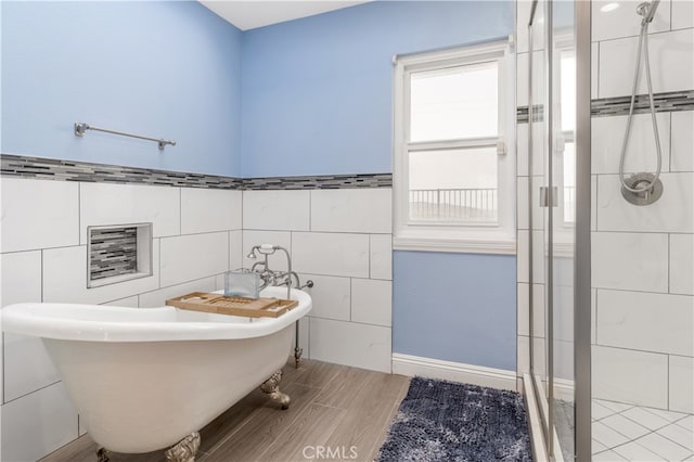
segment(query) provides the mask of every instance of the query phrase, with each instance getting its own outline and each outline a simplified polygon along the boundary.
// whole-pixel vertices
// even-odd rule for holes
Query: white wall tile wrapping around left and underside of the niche
[[[43,301],[102,304],[159,286],[159,245],[153,240],[153,274],[118,284],[87,288],[87,246],[49,248],[43,251]]]

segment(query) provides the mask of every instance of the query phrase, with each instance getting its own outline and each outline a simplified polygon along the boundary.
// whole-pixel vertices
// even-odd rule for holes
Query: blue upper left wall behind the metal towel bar
[[[2,1],[2,152],[241,175],[241,31],[194,1]],[[170,138],[73,131],[75,121]]]

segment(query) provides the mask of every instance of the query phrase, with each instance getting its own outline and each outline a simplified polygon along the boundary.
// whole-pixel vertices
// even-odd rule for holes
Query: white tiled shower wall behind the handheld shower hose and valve
[[[612,0],[609,1],[612,2]],[[629,97],[638,3],[593,1],[593,98]],[[656,93],[694,90],[693,2],[663,0],[650,26]],[[638,94],[646,93],[643,61]],[[692,412],[694,396],[694,112],[657,113],[664,193],[627,203],[618,179],[626,116],[592,119],[593,393],[635,406]],[[651,115],[634,115],[626,170],[655,171]],[[642,444],[643,438],[639,439]],[[691,452],[691,451],[690,451]],[[666,454],[660,453],[661,457]],[[640,457],[644,457],[641,454]]]

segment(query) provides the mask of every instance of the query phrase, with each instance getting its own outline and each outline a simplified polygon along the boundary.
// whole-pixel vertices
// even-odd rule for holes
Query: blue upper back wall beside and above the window
[[[512,1],[378,1],[244,33],[244,177],[391,171],[395,54],[513,33]]]

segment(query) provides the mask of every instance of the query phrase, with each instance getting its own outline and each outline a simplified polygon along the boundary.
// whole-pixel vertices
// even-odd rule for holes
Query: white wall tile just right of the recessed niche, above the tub
[[[162,287],[215,275],[229,270],[229,234],[162,238],[160,254]]]

